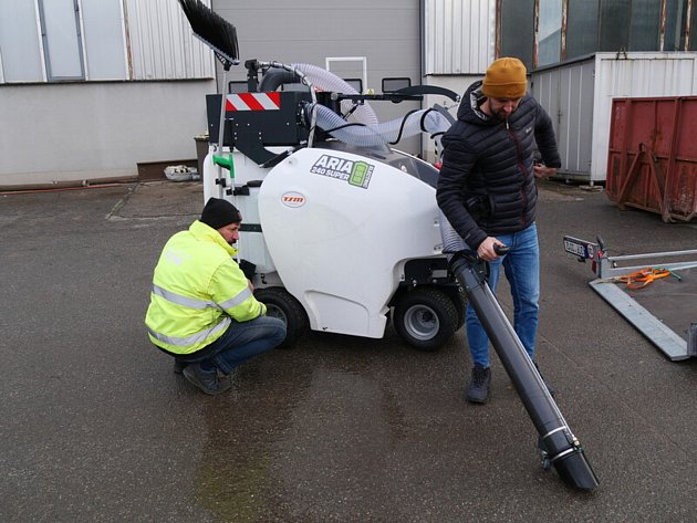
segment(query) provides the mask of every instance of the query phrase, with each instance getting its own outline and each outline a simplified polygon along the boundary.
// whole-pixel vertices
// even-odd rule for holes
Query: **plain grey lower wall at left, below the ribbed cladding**
[[[196,158],[212,81],[0,88],[0,187],[128,178],[138,163]]]

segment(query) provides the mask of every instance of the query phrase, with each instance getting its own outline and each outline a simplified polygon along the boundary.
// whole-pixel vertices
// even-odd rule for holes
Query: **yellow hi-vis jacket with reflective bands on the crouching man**
[[[145,315],[150,341],[175,354],[190,354],[218,339],[232,323],[266,314],[220,233],[201,221],[173,236],[153,276]]]

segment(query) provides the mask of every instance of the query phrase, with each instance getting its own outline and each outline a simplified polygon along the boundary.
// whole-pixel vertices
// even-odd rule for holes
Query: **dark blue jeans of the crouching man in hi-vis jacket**
[[[249,322],[236,322],[210,345],[201,349],[200,357],[196,353],[186,363],[212,365],[223,374],[230,374],[235,367],[271,351],[285,339],[285,324],[278,317],[259,316]]]

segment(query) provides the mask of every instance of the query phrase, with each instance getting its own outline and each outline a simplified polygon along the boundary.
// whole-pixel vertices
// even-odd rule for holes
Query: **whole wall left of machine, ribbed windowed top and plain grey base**
[[[0,187],[129,177],[138,163],[196,158],[215,60],[178,2],[77,0],[60,24],[50,19],[72,6],[0,2]],[[74,77],[56,74],[62,63]]]

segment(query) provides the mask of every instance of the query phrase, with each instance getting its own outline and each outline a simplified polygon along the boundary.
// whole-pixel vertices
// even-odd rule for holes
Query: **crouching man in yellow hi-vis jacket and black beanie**
[[[285,324],[266,316],[233,259],[241,221],[232,203],[210,198],[200,220],[165,244],[145,316],[150,342],[175,357],[175,372],[209,395],[230,388],[238,365],[285,338]]]

